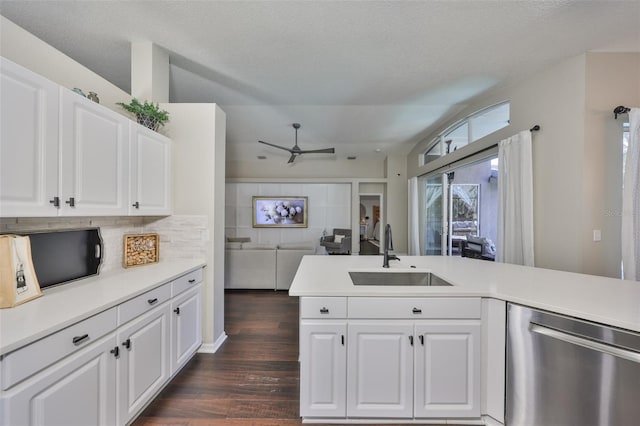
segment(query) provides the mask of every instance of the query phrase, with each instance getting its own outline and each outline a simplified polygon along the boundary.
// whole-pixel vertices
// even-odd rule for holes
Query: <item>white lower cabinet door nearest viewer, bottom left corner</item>
[[[116,363],[111,334],[38,373],[2,396],[4,425],[117,424]]]

